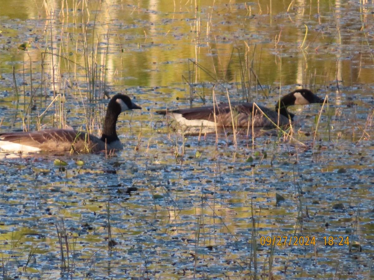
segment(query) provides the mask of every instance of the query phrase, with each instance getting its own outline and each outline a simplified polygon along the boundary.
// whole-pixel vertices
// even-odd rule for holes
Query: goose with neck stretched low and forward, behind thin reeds
[[[294,114],[287,111],[290,105],[323,103],[324,99],[305,88],[283,96],[275,105],[275,110],[256,106],[252,102],[229,103],[176,110],[160,110],[156,113],[168,115],[185,127],[274,127],[288,125]],[[261,111],[258,108],[261,109]],[[234,121],[232,120],[232,116]]]

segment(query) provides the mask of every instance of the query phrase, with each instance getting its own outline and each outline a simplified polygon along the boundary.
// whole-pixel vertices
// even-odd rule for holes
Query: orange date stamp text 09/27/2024
[[[316,245],[315,236],[261,236],[260,244],[262,246],[280,246],[280,245],[294,245],[294,246],[309,246]]]

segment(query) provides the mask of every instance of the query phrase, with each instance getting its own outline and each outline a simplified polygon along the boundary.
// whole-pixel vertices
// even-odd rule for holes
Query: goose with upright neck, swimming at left
[[[123,94],[113,96],[108,104],[101,138],[84,131],[49,128],[31,132],[0,133],[0,150],[9,152],[97,152],[122,149],[116,132],[116,122],[121,112],[141,109]]]

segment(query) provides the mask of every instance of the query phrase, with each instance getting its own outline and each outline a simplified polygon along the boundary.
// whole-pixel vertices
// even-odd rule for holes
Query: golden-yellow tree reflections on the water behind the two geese
[[[360,71],[373,64],[367,43],[357,40],[361,33],[344,32],[347,28],[369,28],[371,23],[366,16],[357,25],[343,21],[338,1],[336,7],[319,1],[320,6],[303,8],[272,1],[271,10],[267,2],[261,1],[252,5],[230,1],[223,6],[200,1],[197,10],[192,3],[185,6],[175,1],[144,1],[133,6],[120,1],[90,1],[88,7],[83,3],[79,6],[82,10],[73,6],[74,1],[66,3],[68,10],[64,14],[59,13],[61,2],[50,3],[55,5],[53,21],[46,15],[42,1],[37,7],[27,1],[18,1],[16,8],[11,1],[4,3],[2,16],[32,22],[33,26],[20,37],[11,24],[2,30],[1,44],[10,52],[3,53],[1,60],[15,61],[17,72],[29,72],[31,60],[33,72],[41,72],[40,61],[45,55],[46,78],[50,82],[64,84],[68,77],[82,82],[74,72],[85,72],[82,43],[87,40],[90,52],[98,52],[97,62],[105,59],[105,81],[116,87],[173,87],[182,76],[188,77],[187,59],[194,59],[210,73],[195,67],[193,81],[210,80],[213,75],[240,83],[240,61],[245,54],[264,85],[324,85],[336,77],[350,85],[367,83],[373,77],[371,68]],[[331,9],[337,12],[318,14]],[[16,15],[19,10],[24,13]],[[96,20],[96,24],[87,24],[90,20]],[[8,38],[10,43],[6,43]],[[28,52],[17,49],[23,41],[32,42]],[[26,63],[18,63],[22,61]],[[10,66],[2,63],[2,72],[11,72]]]

